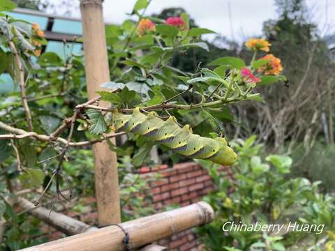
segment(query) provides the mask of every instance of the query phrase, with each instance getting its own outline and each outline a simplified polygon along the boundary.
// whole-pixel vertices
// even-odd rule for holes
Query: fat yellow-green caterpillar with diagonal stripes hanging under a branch
[[[163,121],[156,112],[145,115],[140,112],[140,108],[136,108],[133,114],[113,112],[112,123],[116,132],[142,135],[188,158],[211,160],[220,165],[232,165],[237,159],[236,153],[223,137],[210,139],[195,135],[188,125],[180,128],[173,116]]]

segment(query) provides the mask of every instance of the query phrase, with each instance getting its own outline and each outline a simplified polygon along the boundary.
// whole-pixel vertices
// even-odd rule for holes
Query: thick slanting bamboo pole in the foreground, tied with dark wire
[[[128,234],[131,248],[140,248],[161,238],[213,220],[214,211],[205,202],[147,216],[119,224]],[[103,227],[57,241],[26,248],[24,251],[117,251],[125,250],[124,231],[120,227]],[[22,250],[23,251],[23,250]]]

